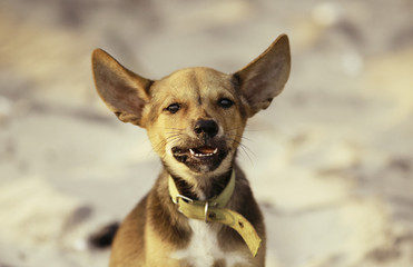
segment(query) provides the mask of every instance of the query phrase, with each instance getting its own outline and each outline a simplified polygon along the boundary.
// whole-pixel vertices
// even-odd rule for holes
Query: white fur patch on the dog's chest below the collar
[[[249,266],[239,253],[224,253],[218,244],[217,231],[201,220],[189,219],[193,236],[189,246],[173,253],[171,257],[194,267],[235,265]]]

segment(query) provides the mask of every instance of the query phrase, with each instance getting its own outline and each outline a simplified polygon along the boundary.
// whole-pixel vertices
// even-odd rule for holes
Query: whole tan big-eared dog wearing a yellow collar
[[[236,155],[247,119],[288,80],[287,36],[230,75],[196,67],[150,80],[101,49],[92,71],[100,98],[147,130],[164,167],[116,233],[109,266],[265,266],[263,215]]]

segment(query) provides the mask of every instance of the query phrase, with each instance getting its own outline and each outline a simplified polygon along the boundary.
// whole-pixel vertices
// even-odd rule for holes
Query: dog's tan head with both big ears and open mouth
[[[283,90],[291,57],[288,38],[281,36],[233,75],[188,68],[154,81],[100,49],[92,68],[99,96],[116,116],[147,129],[169,171],[196,179],[229,170],[246,120]]]

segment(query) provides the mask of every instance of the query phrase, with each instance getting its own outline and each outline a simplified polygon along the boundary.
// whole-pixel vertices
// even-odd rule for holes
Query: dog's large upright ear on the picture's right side
[[[249,106],[249,117],[266,109],[273,98],[283,91],[289,70],[288,37],[282,34],[258,58],[234,75]]]

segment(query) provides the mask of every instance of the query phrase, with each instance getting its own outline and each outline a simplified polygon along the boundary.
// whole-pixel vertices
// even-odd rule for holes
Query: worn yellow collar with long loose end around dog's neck
[[[240,214],[224,208],[230,197],[233,196],[235,188],[235,171],[233,170],[228,185],[224,188],[222,194],[206,200],[194,200],[179,194],[178,188],[175,185],[174,179],[169,176],[169,195],[178,206],[178,210],[184,214],[187,218],[205,220],[210,222],[219,222],[227,225],[235,229],[247,244],[253,257],[256,256],[262,239],[254,229],[254,226],[244,218]]]

